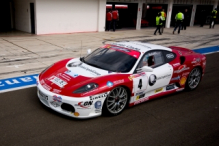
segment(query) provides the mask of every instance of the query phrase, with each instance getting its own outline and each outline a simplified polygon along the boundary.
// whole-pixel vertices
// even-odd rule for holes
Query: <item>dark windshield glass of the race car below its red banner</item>
[[[116,49],[99,48],[85,57],[83,61],[108,71],[129,72],[137,58]]]

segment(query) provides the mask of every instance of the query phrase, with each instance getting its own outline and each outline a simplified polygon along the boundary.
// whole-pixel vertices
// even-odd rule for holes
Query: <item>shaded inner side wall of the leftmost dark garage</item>
[[[30,3],[35,0],[14,0],[15,29],[31,33]]]

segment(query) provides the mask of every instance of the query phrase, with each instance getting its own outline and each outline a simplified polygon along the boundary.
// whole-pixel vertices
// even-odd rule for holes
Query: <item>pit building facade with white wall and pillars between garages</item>
[[[132,7],[130,13],[135,14],[136,29],[141,29],[143,17],[153,19],[152,13],[159,10],[160,5],[167,13],[167,28],[178,8],[190,9],[189,25],[193,26],[197,10],[208,7],[211,11],[218,7],[218,0],[3,0],[0,3],[0,18],[4,22],[0,31],[7,28],[37,35],[105,31],[106,4]]]

